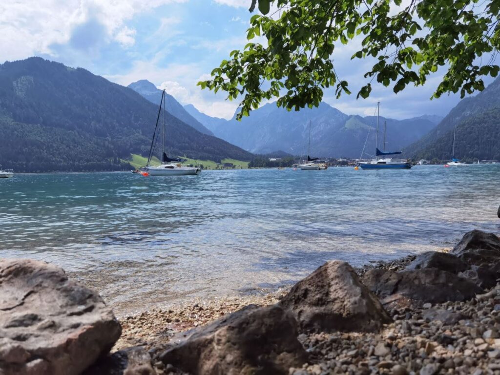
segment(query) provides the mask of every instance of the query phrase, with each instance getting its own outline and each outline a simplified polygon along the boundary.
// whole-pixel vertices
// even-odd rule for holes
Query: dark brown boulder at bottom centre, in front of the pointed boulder
[[[297,335],[280,306],[249,305],[172,340],[159,359],[193,375],[287,374],[307,358]]]

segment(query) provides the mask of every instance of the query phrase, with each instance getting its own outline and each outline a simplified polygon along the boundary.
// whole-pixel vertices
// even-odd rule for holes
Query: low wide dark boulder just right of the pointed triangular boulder
[[[397,304],[398,300],[406,300],[409,303],[463,301],[482,291],[474,282],[437,268],[402,272],[375,268],[364,274],[363,282],[383,298],[383,304]]]

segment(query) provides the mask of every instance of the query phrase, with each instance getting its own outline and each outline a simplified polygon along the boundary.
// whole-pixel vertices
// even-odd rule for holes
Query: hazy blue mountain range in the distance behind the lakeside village
[[[210,117],[192,105],[184,108],[216,136],[254,153],[282,150],[295,155],[305,154],[309,121],[311,156],[359,157],[365,144],[366,152],[374,153],[376,117],[347,115],[324,102],[298,112],[268,103],[241,121],[235,116],[231,120]],[[438,116],[428,115],[405,120],[380,117],[379,141],[382,142],[384,122],[386,147],[397,150],[426,134],[439,120]]]

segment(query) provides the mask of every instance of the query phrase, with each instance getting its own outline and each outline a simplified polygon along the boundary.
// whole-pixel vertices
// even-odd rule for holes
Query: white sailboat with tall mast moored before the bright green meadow
[[[163,110],[162,110],[163,109]],[[158,126],[159,123],[159,126]],[[151,176],[175,176],[175,175],[196,175],[201,170],[197,167],[185,166],[182,162],[186,159],[168,157],[165,152],[165,90],[161,93],[161,100],[159,103],[158,116],[156,117],[156,125],[154,126],[153,137],[151,139],[151,147],[149,148],[149,155],[147,156],[147,164],[144,168],[144,175]],[[160,149],[160,165],[151,165],[151,159],[154,154],[156,142],[159,138]],[[146,174],[147,173],[147,174]]]

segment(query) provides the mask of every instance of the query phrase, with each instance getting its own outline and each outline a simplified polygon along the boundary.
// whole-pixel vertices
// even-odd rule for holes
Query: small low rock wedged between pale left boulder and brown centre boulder
[[[127,347],[101,357],[83,375],[155,375],[151,356],[141,346]]]

